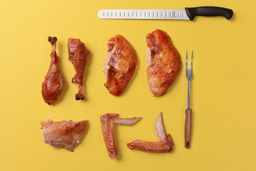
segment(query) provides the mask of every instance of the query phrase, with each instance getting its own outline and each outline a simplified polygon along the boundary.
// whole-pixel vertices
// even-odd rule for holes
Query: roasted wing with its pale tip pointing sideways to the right
[[[106,113],[101,116],[101,129],[108,155],[111,159],[115,159],[118,153],[114,138],[114,124],[132,126],[142,117],[118,118],[116,113]]]

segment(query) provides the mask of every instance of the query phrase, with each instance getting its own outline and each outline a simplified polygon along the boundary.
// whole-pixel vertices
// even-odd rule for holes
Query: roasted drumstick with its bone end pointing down
[[[78,84],[78,93],[76,100],[84,100],[83,94],[83,76],[85,74],[85,66],[90,58],[91,52],[80,39],[68,39],[68,60],[72,62],[76,71],[72,78],[72,83]]]

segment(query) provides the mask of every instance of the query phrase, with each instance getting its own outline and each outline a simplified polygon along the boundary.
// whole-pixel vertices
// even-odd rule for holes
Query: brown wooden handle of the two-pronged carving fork
[[[185,119],[185,148],[190,147],[191,138],[191,127],[192,127],[192,110],[186,109],[186,119]]]

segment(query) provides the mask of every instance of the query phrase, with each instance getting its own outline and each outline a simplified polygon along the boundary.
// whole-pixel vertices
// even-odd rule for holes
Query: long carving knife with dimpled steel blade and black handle
[[[185,9],[99,10],[101,19],[169,19],[191,20],[195,16],[224,16],[231,19],[233,10],[217,6],[200,6]]]

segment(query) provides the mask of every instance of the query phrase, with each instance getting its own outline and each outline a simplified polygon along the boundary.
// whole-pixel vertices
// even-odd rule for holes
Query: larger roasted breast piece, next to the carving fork
[[[165,31],[147,35],[147,76],[153,96],[162,96],[171,87],[182,66],[180,54]]]

